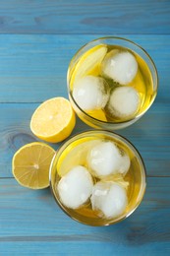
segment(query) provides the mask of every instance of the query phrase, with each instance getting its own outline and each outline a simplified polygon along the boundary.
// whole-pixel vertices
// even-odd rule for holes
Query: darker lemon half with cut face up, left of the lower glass
[[[12,169],[16,180],[25,187],[42,189],[49,186],[49,166],[55,151],[40,142],[29,143],[13,157]]]

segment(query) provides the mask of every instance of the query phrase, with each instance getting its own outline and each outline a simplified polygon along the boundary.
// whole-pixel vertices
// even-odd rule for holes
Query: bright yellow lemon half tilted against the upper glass
[[[72,133],[75,123],[75,112],[70,101],[54,97],[36,108],[30,120],[30,130],[39,139],[56,143]]]

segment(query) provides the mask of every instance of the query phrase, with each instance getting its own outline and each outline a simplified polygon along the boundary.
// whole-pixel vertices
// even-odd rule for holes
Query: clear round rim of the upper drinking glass
[[[142,111],[142,113],[138,114],[137,116],[135,117],[132,117],[128,120],[125,120],[125,121],[120,121],[120,122],[110,122],[110,121],[103,121],[103,120],[99,120],[91,115],[89,115],[88,113],[85,112],[85,110],[83,108],[81,108],[81,106],[77,103],[77,101],[75,100],[74,96],[72,96],[71,94],[71,89],[70,89],[70,83],[69,83],[69,70],[70,70],[70,66],[72,65],[72,62],[75,60],[75,58],[79,55],[79,53],[89,44],[91,44],[92,42],[97,42],[99,40],[104,40],[104,39],[118,39],[118,40],[122,40],[122,41],[127,41],[127,42],[130,42],[131,44],[134,44],[135,46],[137,46],[138,48],[140,48],[142,50],[142,52],[146,55],[146,57],[149,59],[151,65],[153,66],[153,69],[155,71],[155,74],[156,74],[156,90],[155,90],[155,94],[154,94],[154,97],[152,98],[152,100],[150,101],[149,105]],[[150,70],[150,69],[149,69]],[[151,73],[151,72],[150,72]],[[152,77],[152,74],[151,74],[151,77]],[[72,100],[74,101],[74,103],[76,104],[76,106],[85,114],[85,116],[87,116],[88,119],[91,119],[91,120],[94,120],[94,122],[99,122],[101,124],[108,124],[108,125],[121,125],[121,124],[126,124],[126,123],[129,123],[131,121],[135,121],[135,120],[138,120],[140,117],[142,117],[142,115],[149,109],[149,107],[152,105],[155,97],[157,96],[157,91],[158,91],[158,83],[159,82],[159,77],[158,77],[158,72],[157,72],[157,68],[154,64],[154,61],[152,60],[152,58],[150,57],[150,55],[146,52],[146,50],[144,50],[144,48],[142,48],[142,46],[128,38],[125,38],[125,37],[121,37],[121,36],[112,36],[112,35],[108,35],[108,36],[102,36],[102,37],[98,37],[98,38],[95,38],[93,40],[90,40],[88,41],[87,43],[85,43],[75,54],[74,56],[72,57],[70,63],[69,63],[69,67],[68,67],[68,70],[67,70],[67,88],[68,88],[68,92],[69,92],[69,96],[71,96]]]

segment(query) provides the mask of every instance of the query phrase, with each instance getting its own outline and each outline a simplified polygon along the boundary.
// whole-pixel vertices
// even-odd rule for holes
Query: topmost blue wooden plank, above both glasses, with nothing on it
[[[1,1],[2,33],[169,33],[167,0]]]

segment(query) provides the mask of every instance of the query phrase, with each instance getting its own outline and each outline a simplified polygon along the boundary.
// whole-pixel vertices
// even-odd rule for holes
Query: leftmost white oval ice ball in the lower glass
[[[72,209],[82,206],[92,192],[92,178],[88,170],[77,165],[63,176],[57,186],[62,203]]]

